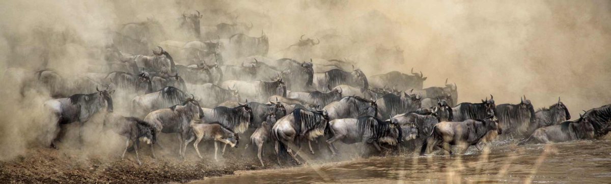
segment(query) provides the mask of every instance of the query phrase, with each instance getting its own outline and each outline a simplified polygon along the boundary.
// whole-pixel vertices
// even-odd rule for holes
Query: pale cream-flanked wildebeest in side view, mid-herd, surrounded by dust
[[[287,96],[287,87],[282,79],[275,81],[254,81],[245,82],[239,80],[227,80],[221,83],[221,87],[225,89],[232,88],[238,90],[240,96],[245,99],[253,99],[253,101],[264,102],[270,96],[278,95]]]

